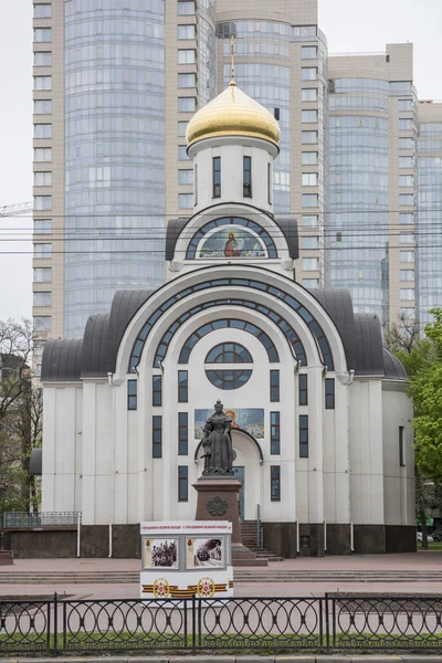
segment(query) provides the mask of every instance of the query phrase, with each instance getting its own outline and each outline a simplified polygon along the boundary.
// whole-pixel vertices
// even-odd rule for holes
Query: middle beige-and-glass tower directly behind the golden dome
[[[218,91],[234,75],[246,94],[280,122],[273,212],[296,218],[297,281],[326,281],[324,230],[328,208],[327,42],[317,27],[317,0],[217,0]]]

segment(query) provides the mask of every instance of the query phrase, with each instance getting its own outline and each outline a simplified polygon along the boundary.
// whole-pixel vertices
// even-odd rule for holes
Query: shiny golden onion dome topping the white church
[[[273,115],[239,90],[232,81],[224,92],[198,110],[187,125],[188,147],[203,138],[215,136],[252,136],[278,147],[281,131]]]

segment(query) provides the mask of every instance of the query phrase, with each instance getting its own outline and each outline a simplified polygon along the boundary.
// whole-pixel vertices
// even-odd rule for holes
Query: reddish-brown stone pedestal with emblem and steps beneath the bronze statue
[[[232,523],[232,566],[267,566],[266,559],[242,545],[238,478],[201,476],[192,484],[198,493],[196,520],[229,520]]]

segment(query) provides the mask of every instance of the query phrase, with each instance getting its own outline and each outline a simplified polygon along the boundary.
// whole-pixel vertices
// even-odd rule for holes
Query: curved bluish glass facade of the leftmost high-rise
[[[65,336],[164,281],[165,7],[65,2]],[[150,235],[150,238],[149,238]]]

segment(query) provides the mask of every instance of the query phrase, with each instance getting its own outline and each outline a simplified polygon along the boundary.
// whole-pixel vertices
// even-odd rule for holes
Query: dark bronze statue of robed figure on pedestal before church
[[[201,459],[204,459],[202,474],[233,475],[232,420],[223,412],[220,400],[214,406],[214,414],[209,417],[204,425]]]

